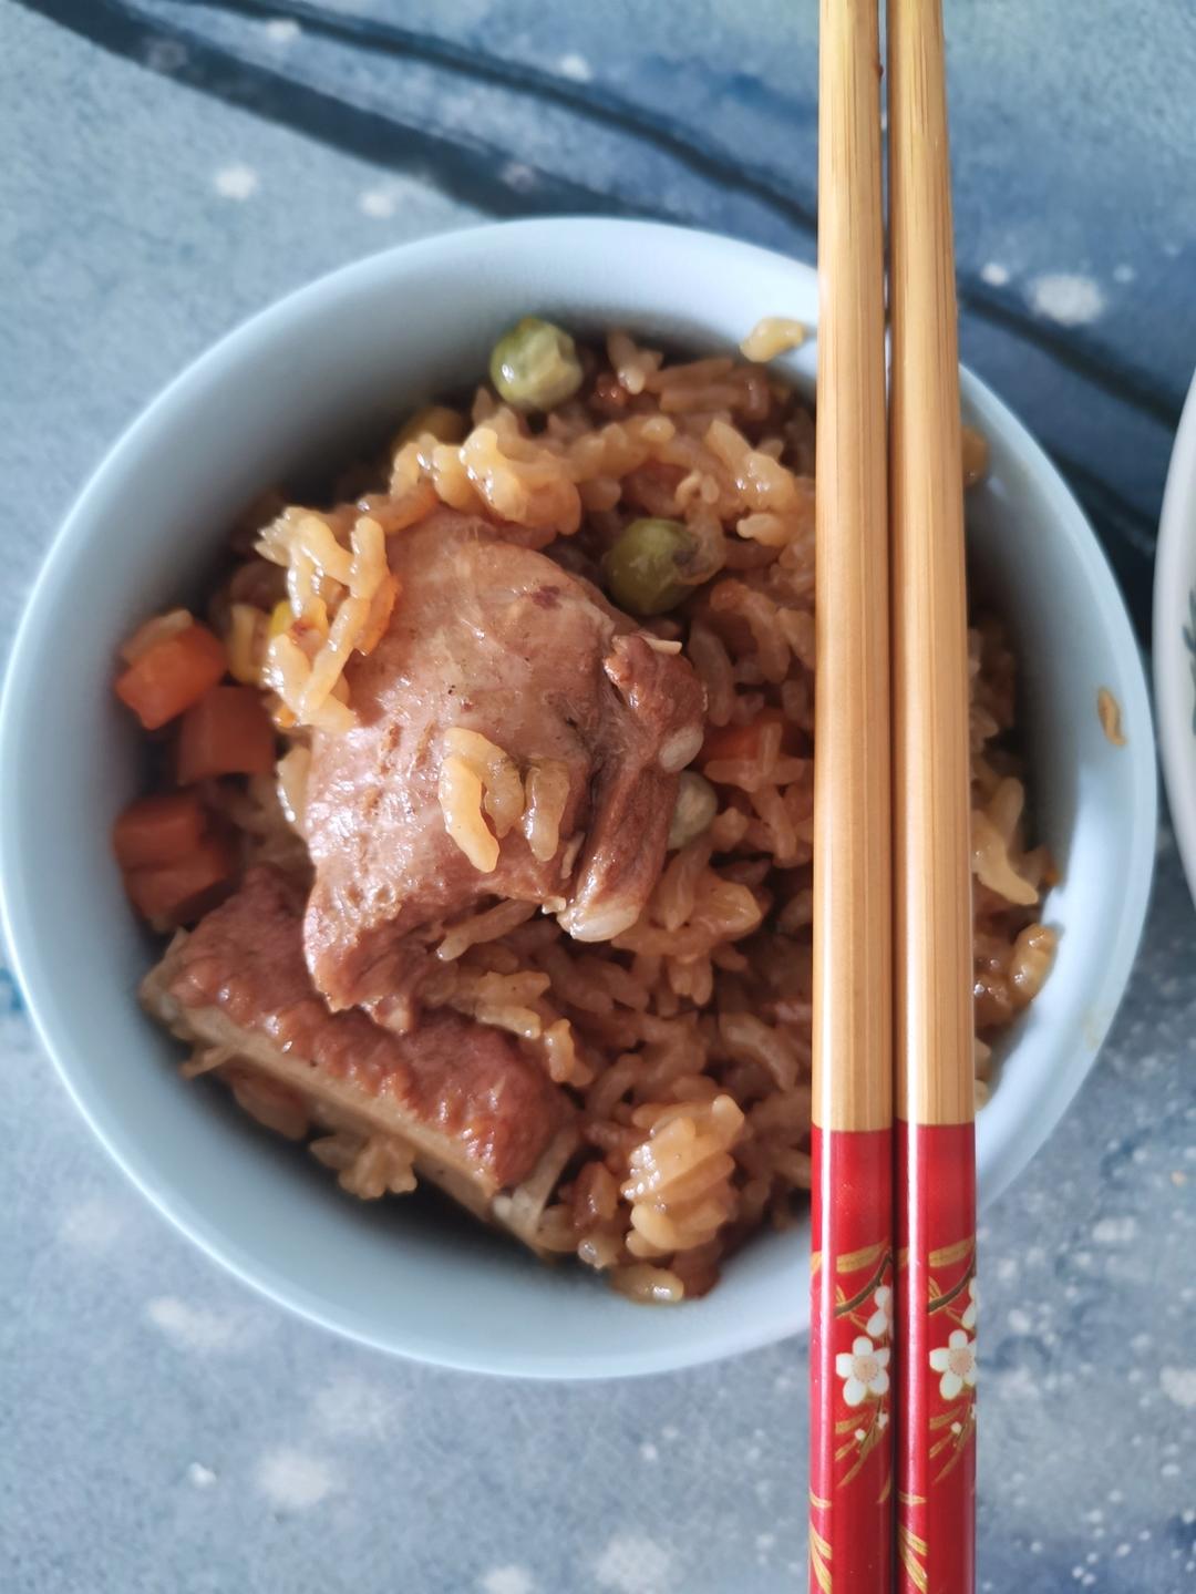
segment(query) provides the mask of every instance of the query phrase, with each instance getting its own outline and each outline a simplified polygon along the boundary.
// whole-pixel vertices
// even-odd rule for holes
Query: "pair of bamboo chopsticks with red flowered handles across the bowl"
[[[940,0],[887,0],[887,30],[885,426],[877,0],[822,0],[811,1589],[970,1594],[967,614]]]

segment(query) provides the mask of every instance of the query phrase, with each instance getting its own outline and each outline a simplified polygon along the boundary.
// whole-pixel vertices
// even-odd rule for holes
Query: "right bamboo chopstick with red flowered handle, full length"
[[[898,1588],[975,1588],[967,603],[940,0],[889,0]]]

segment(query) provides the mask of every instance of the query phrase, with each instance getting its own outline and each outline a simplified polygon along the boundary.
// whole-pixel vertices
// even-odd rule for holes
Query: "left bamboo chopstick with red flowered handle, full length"
[[[887,1594],[889,524],[877,0],[819,32],[811,1589]]]

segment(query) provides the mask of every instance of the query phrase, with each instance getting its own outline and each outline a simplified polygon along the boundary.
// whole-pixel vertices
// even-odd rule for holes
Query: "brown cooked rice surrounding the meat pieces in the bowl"
[[[548,1188],[530,1207],[526,1191],[503,1189],[491,1216],[635,1299],[678,1301],[709,1290],[763,1224],[791,1221],[809,1188],[812,416],[763,365],[672,362],[618,332],[592,349],[535,336],[532,376],[554,384],[546,413],[518,402],[527,370],[500,362],[468,405],[412,416],[328,505],[279,502],[239,529],[242,556],[209,618],[277,741],[268,768],[205,775],[191,789],[226,845],[215,894],[258,862],[306,889],[312,738],[357,725],[355,674],[405,603],[397,540],[446,510],[543,550],[631,609],[661,655],[688,662],[705,693],[701,744],[674,749],[667,854],[642,912],[572,923],[570,934],[564,897],[541,910],[483,896],[419,932],[422,1006],[513,1036],[577,1109],[577,1138]],[[771,328],[756,346],[791,336]],[[975,440],[967,469],[983,469]],[[970,690],[983,1093],[991,1044],[1045,980],[1054,934],[1038,920],[1051,864],[1026,835],[1014,660],[989,617],[970,633]],[[561,856],[565,875],[573,867],[553,759],[446,727],[436,800],[481,875],[508,835],[537,858]],[[151,917],[191,923],[210,902]],[[202,1047],[191,1068],[225,1078],[276,1130],[311,1140],[354,1194],[414,1183],[419,1164],[401,1140],[328,1122],[303,1090],[263,1087],[233,1054]]]

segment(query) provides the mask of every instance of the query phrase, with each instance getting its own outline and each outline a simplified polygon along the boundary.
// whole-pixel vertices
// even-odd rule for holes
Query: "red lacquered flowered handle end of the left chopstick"
[[[814,1125],[809,1586],[892,1588],[893,1137]]]

